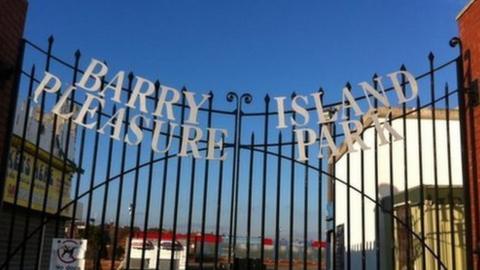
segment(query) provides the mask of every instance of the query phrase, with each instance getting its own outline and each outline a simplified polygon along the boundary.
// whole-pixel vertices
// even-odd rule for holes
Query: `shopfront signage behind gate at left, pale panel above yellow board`
[[[39,112],[34,110],[27,115],[25,108],[26,106],[19,106],[16,113],[3,200],[37,211],[43,211],[45,207],[47,213],[55,214],[60,197],[62,205],[71,200],[71,177],[75,170],[71,160],[74,158],[75,144],[69,144],[68,151],[65,149],[68,135],[67,125],[65,121],[57,119],[54,145],[51,147],[53,114],[44,114],[42,125],[39,125]],[[27,119],[27,125],[25,139],[22,142],[25,119]],[[39,126],[40,130],[38,130]],[[38,145],[37,132],[41,134]],[[70,140],[74,141],[74,128],[70,133]],[[51,161],[50,148],[53,149]],[[64,162],[66,155],[68,155],[68,159],[67,162]],[[22,164],[20,164],[21,159],[23,159]],[[30,193],[32,193],[31,198]],[[45,196],[47,196],[46,201],[44,200]],[[65,209],[61,214],[71,216],[71,208]]]

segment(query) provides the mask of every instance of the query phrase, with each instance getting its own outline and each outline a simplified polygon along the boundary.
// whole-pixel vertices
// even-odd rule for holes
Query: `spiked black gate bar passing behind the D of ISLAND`
[[[404,65],[400,67],[400,70],[406,71]],[[402,91],[403,94],[406,94],[406,81],[405,76],[402,75]],[[405,224],[408,226],[406,229],[408,232],[411,230],[411,220],[410,220],[410,198],[409,198],[409,189],[408,189],[408,151],[407,151],[407,104],[404,102],[402,105],[402,124],[403,124],[403,178],[404,178],[404,201],[405,201]],[[412,269],[412,260],[411,260],[411,235],[409,233],[407,237],[407,246],[405,252],[407,253],[407,269]]]

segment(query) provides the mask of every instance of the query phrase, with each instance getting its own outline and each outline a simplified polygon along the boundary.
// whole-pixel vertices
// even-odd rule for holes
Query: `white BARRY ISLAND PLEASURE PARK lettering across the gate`
[[[171,150],[172,141],[175,132],[183,134],[179,142],[178,156],[192,156],[194,158],[206,158],[210,160],[224,160],[226,153],[220,155],[224,147],[224,140],[228,137],[228,131],[224,128],[209,127],[200,128],[199,111],[209,103],[212,95],[197,95],[194,92],[158,85],[140,76],[130,77],[132,90],[125,97],[126,102],[122,102],[122,94],[125,95],[125,72],[115,73],[113,78],[102,82],[109,73],[108,66],[99,60],[92,59],[80,80],[71,86],[66,86],[63,93],[59,93],[62,88],[61,80],[50,72],[45,72],[42,81],[34,91],[33,101],[38,103],[44,94],[60,95],[58,101],[52,107],[52,112],[63,119],[72,119],[72,121],[84,128],[94,129],[101,134],[106,134],[106,129],[112,130],[112,139],[124,141],[128,145],[139,145],[144,140],[144,129],[152,129],[150,138],[152,151],[157,153],[166,153]],[[392,89],[397,97],[397,104],[403,104],[414,100],[418,95],[418,84],[415,77],[405,70],[392,72],[386,75],[390,81]],[[410,89],[407,93],[407,87],[401,85],[400,78],[404,78]],[[337,145],[334,143],[331,131],[328,126],[339,124],[344,134],[344,143],[347,145],[347,152],[355,152],[357,144],[361,150],[370,149],[360,134],[364,126],[359,120],[351,118],[347,111],[353,112],[354,117],[370,119],[373,127],[377,130],[380,139],[380,145],[389,143],[386,133],[392,135],[393,140],[402,139],[402,136],[387,122],[381,122],[376,113],[373,101],[378,101],[382,106],[389,108],[392,102],[385,92],[384,80],[382,77],[376,77],[376,85],[373,87],[368,82],[358,84],[363,91],[368,108],[362,108],[357,99],[354,98],[350,86],[342,89],[342,102],[335,108],[325,108],[322,102],[323,93],[316,92],[310,95],[296,95],[291,99],[290,108],[287,109],[287,98],[284,96],[274,97],[277,107],[277,129],[282,130],[291,127],[295,134],[297,144],[297,160],[307,161],[307,147],[318,144],[319,152],[317,158],[324,158],[323,150],[327,149],[331,156],[339,153]],[[83,91],[85,97],[80,108],[76,111],[65,112],[65,106],[70,102],[72,95],[76,91]],[[156,93],[158,91],[158,93]],[[43,96],[42,96],[43,97]],[[158,98],[156,98],[158,97]],[[153,101],[150,103],[149,100]],[[184,122],[177,124],[179,119],[175,117],[175,106],[179,106],[183,100],[185,107]],[[97,121],[100,111],[106,109],[108,102],[113,102],[116,107],[115,113],[103,123]],[[308,109],[307,109],[308,108]],[[138,112],[129,119],[126,119],[126,110]],[[296,117],[287,117],[287,111],[292,111]],[[313,111],[313,117],[310,115]],[[364,112],[365,111],[365,112]],[[314,119],[315,121],[311,121]],[[129,123],[126,134],[122,134],[124,125]],[[316,131],[308,127],[312,122],[315,125],[321,125],[321,129]],[[168,127],[168,128],[167,128]],[[168,134],[165,134],[167,133]],[[162,137],[161,134],[166,136]],[[123,135],[123,138],[122,138]],[[219,139],[219,137],[221,137]],[[165,138],[160,147],[161,138]],[[202,156],[200,143],[205,141],[205,154]]]

